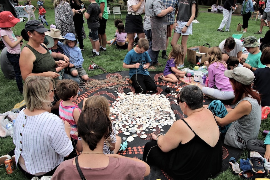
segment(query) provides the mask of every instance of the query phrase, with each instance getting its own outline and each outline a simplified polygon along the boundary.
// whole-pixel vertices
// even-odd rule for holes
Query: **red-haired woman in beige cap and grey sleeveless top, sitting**
[[[226,70],[234,90],[234,109],[226,109],[220,100],[214,100],[208,108],[216,116],[216,122],[224,136],[224,144],[245,149],[247,141],[257,139],[261,125],[261,100],[257,91],[252,90],[254,74],[244,67]]]

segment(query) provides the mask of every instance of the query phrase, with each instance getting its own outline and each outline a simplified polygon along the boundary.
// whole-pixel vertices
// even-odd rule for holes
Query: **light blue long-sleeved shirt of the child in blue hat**
[[[63,44],[58,41],[58,45],[63,49],[64,54],[69,57],[70,63],[74,64],[75,68],[82,68],[82,63],[84,61],[81,50],[78,46],[70,48],[67,44]]]

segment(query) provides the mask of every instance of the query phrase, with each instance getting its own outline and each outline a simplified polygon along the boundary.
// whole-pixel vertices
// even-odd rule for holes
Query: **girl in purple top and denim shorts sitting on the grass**
[[[159,79],[172,83],[177,83],[178,78],[184,77],[186,73],[177,69],[178,64],[183,63],[184,49],[181,45],[176,44],[168,56],[168,61],[163,71],[163,75],[161,75]]]

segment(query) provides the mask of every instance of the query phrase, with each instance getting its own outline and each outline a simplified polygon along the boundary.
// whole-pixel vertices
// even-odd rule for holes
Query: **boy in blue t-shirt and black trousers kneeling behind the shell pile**
[[[151,62],[150,56],[146,52],[148,48],[148,40],[141,38],[136,47],[130,50],[124,59],[123,68],[129,68],[129,78],[135,93],[146,94],[146,91],[157,91],[157,86],[147,70]]]

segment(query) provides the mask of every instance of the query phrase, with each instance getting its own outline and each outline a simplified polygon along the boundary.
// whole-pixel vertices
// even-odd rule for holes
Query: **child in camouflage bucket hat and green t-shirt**
[[[243,67],[246,67],[253,72],[257,68],[264,68],[266,67],[260,61],[262,52],[259,49],[260,43],[257,42],[257,38],[255,36],[248,36],[244,40],[243,47],[247,49],[249,54],[247,55],[247,59],[245,63],[243,63]]]

